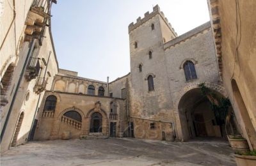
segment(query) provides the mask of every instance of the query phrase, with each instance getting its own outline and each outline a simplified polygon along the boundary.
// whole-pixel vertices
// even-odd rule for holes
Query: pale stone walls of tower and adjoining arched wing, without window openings
[[[214,52],[211,24],[209,22],[196,27],[188,33],[177,37],[173,29],[166,24],[163,13],[154,7],[151,17],[145,16],[147,20],[140,18],[136,24],[130,24],[130,51],[131,51],[131,117],[136,126],[144,126],[146,133],[151,130],[147,128],[143,119],[166,121],[175,123],[173,130],[177,132],[177,139],[182,139],[182,127],[179,121],[179,100],[184,89],[207,82],[216,86],[216,91],[222,93],[223,87],[219,83],[218,64]],[[159,14],[156,14],[156,11]],[[151,25],[154,24],[152,30]],[[164,43],[164,40],[168,41]],[[134,43],[138,43],[138,48]],[[152,52],[152,58],[148,52]],[[195,64],[197,79],[186,81],[183,64],[192,61]],[[139,65],[142,71],[139,70]],[[148,91],[148,75],[154,77],[154,91]],[[131,119],[132,121],[132,119]],[[134,126],[134,128],[136,128]],[[170,132],[170,131],[169,131]],[[158,131],[158,133],[161,133]],[[138,132],[135,133],[138,136]],[[147,138],[147,135],[143,135]],[[148,137],[150,138],[150,137]],[[157,139],[161,139],[157,137]]]

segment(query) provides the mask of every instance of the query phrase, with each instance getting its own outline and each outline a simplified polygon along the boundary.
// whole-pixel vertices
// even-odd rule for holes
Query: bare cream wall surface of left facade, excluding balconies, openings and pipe
[[[10,4],[9,4],[10,3]],[[39,94],[36,91],[36,80],[38,77],[45,77],[47,84],[45,89],[50,90],[53,77],[58,73],[58,62],[56,55],[54,53],[54,47],[51,37],[51,29],[49,27],[45,28],[45,38],[42,42],[42,46],[38,46],[38,41],[35,40],[38,47],[38,58],[40,58],[40,68],[41,72],[38,77],[32,80],[27,80],[25,77],[22,78],[21,84],[18,87],[18,93],[15,98],[13,94],[17,88],[18,80],[23,66],[25,65],[25,60],[28,57],[29,43],[24,41],[24,22],[27,19],[27,14],[31,6],[32,1],[15,1],[15,6],[12,2],[4,1],[4,11],[1,17],[1,79],[4,73],[6,73],[6,68],[10,64],[15,67],[12,73],[12,79],[10,80],[10,85],[6,94],[8,103],[6,105],[1,105],[1,132],[6,121],[6,116],[10,109],[10,103],[14,101],[12,113],[10,114],[9,121],[6,126],[6,130],[3,135],[3,140],[1,142],[1,151],[6,151],[15,142],[15,145],[22,144],[28,141],[29,132],[31,131],[31,126],[33,123],[34,116],[37,110],[37,104],[40,104],[44,91]],[[12,9],[15,8],[16,15],[13,17]],[[12,20],[13,19],[13,20]],[[8,31],[8,28],[10,30]],[[49,57],[49,52],[51,51],[51,57],[49,59],[49,64],[47,66],[47,60]],[[45,72],[47,68],[47,71]],[[45,74],[46,73],[46,74]],[[3,80],[4,81],[4,80]],[[2,95],[1,95],[2,99]],[[24,113],[24,118],[19,128],[17,124],[21,113]],[[16,130],[17,128],[17,130]],[[15,134],[16,131],[16,134]],[[19,132],[18,132],[19,131]],[[15,135],[15,137],[13,137]],[[17,137],[16,137],[17,136]],[[13,140],[15,139],[15,140]],[[17,140],[16,140],[17,139]]]

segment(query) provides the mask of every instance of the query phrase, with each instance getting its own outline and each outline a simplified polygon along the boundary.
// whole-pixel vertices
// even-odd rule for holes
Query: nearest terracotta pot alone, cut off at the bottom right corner
[[[256,156],[235,155],[237,166],[255,166]]]

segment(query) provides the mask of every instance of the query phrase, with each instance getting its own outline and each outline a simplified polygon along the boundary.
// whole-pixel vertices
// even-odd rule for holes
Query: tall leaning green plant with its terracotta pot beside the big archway
[[[225,132],[230,146],[234,151],[246,152],[249,151],[248,142],[236,130],[236,123],[234,122],[235,116],[228,98],[221,98],[217,96],[214,91],[205,86],[204,82],[198,85],[204,96],[207,97],[211,103],[211,109],[217,117],[218,125],[225,124]],[[221,128],[220,128],[221,129]]]

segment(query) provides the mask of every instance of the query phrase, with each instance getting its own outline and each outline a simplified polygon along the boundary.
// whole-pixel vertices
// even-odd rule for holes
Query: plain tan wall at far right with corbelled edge
[[[221,79],[241,134],[256,149],[255,7],[250,1],[208,0]]]

